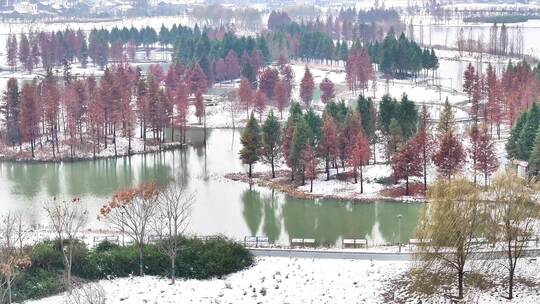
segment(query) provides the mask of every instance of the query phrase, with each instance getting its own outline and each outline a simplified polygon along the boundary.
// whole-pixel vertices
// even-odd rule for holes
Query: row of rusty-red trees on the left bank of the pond
[[[137,127],[144,149],[149,135],[161,145],[165,128],[171,128],[173,139],[179,129],[180,142],[185,142],[188,107],[195,105],[201,121],[207,87],[198,64],[170,65],[166,74],[160,65],[151,66],[147,77],[138,68],[118,64],[105,69],[97,81],[73,79],[65,62],[61,79],[49,69],[43,80],[25,83],[22,89],[16,79],[8,80],[0,107],[6,127],[2,139],[21,150],[29,144],[32,157],[36,147],[43,150],[50,144],[53,158],[66,146],[72,158],[89,151],[95,157],[111,144],[116,155],[119,136],[128,139],[130,154]]]

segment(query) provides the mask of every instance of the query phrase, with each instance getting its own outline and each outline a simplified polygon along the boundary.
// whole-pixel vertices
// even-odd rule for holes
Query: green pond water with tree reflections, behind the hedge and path
[[[90,212],[89,226],[97,228],[104,226],[97,211],[116,190],[176,178],[196,193],[190,233],[236,239],[266,235],[284,244],[290,238],[315,238],[326,245],[340,245],[343,238],[397,242],[399,226],[402,241],[414,234],[420,204],[296,199],[227,180],[224,174],[245,171],[238,159],[239,131],[208,130],[206,148],[203,136],[203,130],[192,129],[192,144],[185,149],[117,159],[0,162],[0,204],[4,212],[23,210],[29,221],[46,223],[42,206],[47,199],[80,197]]]

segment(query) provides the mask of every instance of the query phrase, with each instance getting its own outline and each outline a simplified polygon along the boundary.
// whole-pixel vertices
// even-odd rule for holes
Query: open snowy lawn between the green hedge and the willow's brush
[[[380,303],[385,281],[408,262],[259,258],[251,269],[222,279],[180,280],[133,277],[102,280],[107,304],[114,303]],[[29,304],[62,303],[54,296]]]

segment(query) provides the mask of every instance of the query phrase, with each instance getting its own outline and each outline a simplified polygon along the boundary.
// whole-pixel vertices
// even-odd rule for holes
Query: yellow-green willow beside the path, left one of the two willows
[[[465,179],[439,180],[428,191],[429,204],[419,220],[421,240],[415,259],[421,270],[437,275],[453,272],[458,298],[463,298],[465,266],[478,246],[475,240],[484,227],[484,206],[478,190]]]

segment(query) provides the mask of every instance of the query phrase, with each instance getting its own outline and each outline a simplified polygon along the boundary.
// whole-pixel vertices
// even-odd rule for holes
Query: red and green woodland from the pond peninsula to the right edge
[[[306,74],[308,72],[306,69]],[[240,157],[249,165],[250,176],[251,166],[259,160],[268,162],[275,176],[274,164],[282,157],[291,169],[291,180],[299,179],[301,184],[317,179],[321,162],[327,180],[331,177],[330,169],[334,168],[338,178],[341,169],[345,176],[353,176],[355,182],[359,174],[362,183],[363,166],[377,163],[374,145],[384,144],[384,159],[392,165],[394,180],[405,180],[408,195],[412,177],[423,177],[424,189],[427,188],[427,167],[431,164],[438,168],[441,176],[450,180],[462,172],[466,161],[470,161],[474,182],[482,176],[487,185],[489,176],[499,166],[494,139],[500,137],[501,125],[506,124],[515,125],[507,144],[509,157],[529,160],[531,173],[537,174],[540,110],[533,102],[538,94],[536,73],[537,69],[531,69],[526,63],[509,63],[498,78],[491,65],[485,74],[476,72],[469,65],[464,73],[464,90],[471,117],[466,130],[468,148],[457,134],[453,109],[448,101],[436,130],[433,130],[427,109],[422,107],[419,111],[407,95],[400,101],[386,95],[378,108],[370,98],[360,95],[353,108],[343,101],[333,101],[333,97],[323,98],[326,108],[322,117],[309,107],[309,103],[304,110],[293,103],[289,119],[281,127],[272,113],[262,127],[252,116],[242,136],[244,148]],[[328,82],[323,80],[321,90]],[[323,95],[333,96],[332,90],[329,91]]]

